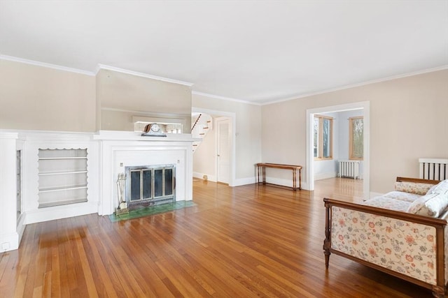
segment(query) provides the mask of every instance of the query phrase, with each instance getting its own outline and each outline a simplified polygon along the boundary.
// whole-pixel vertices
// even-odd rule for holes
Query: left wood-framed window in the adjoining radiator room
[[[332,159],[333,119],[314,115],[314,160]]]

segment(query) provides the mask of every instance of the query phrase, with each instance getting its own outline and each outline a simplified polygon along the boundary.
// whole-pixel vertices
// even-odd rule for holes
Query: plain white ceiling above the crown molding
[[[448,66],[448,1],[0,1],[0,54],[267,103]]]

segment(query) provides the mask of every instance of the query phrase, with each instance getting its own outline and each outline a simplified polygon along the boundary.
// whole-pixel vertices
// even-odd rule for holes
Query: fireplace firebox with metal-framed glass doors
[[[125,200],[130,209],[176,202],[176,165],[125,167]]]

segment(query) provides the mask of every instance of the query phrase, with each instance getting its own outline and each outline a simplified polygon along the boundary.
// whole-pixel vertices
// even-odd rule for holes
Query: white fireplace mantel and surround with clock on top
[[[99,131],[100,142],[99,215],[112,214],[118,207],[116,181],[125,167],[137,165],[176,165],[176,201],[193,200],[193,137],[167,134],[142,137],[140,133]]]

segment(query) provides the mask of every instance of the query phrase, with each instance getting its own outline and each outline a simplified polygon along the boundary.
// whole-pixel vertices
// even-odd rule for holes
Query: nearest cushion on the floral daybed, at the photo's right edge
[[[407,212],[424,216],[438,217],[448,207],[448,190],[444,193],[430,193],[409,205]]]

